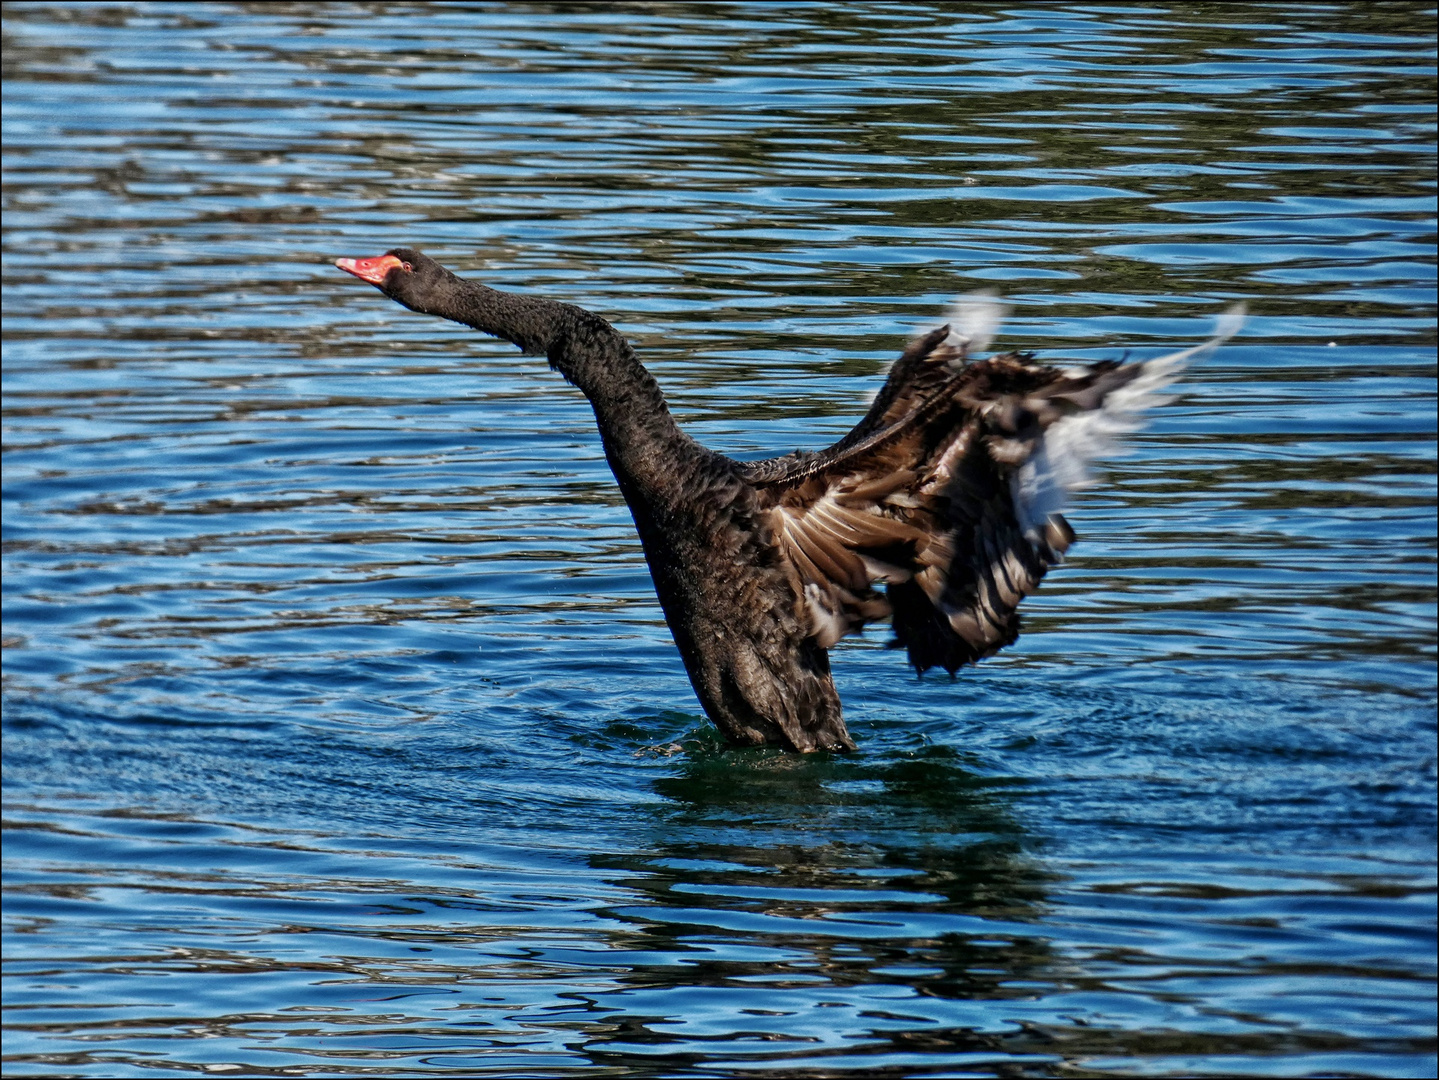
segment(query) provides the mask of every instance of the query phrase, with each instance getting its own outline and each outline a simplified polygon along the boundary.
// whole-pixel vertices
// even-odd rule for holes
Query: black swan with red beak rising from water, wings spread
[[[1233,335],[1143,364],[970,361],[994,301],[909,344],[827,450],[735,462],[675,424],[620,334],[570,303],[462,280],[420,252],[340,259],[390,299],[512,341],[578,387],[705,712],[734,743],[853,749],[829,647],[889,618],[917,672],[953,674],[1019,636],[1019,601],[1075,534],[1059,515],[1085,462]],[[966,325],[968,324],[968,325]],[[881,592],[876,585],[884,584]]]

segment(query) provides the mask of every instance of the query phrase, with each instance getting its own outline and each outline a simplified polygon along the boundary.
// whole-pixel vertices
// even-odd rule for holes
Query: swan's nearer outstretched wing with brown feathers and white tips
[[[1061,509],[1088,462],[1240,321],[1230,311],[1184,352],[1065,370],[1022,354],[967,364],[977,335],[943,326],[839,443],[748,466],[819,644],[889,617],[917,670],[953,673],[1013,641],[1020,600],[1073,541]]]

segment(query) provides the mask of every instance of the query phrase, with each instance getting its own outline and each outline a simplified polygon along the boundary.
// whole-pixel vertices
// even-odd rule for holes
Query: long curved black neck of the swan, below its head
[[[499,292],[449,275],[426,298],[440,315],[527,354],[545,355],[550,367],[578,387],[594,407],[604,453],[626,496],[663,498],[691,460],[708,456],[679,430],[653,375],[609,322],[573,303]]]

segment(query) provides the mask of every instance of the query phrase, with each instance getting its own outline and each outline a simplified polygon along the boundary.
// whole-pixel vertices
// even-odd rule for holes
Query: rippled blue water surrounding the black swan
[[[6,1073],[1433,1074],[1432,9],[6,7]],[[591,416],[817,447],[957,292],[1245,334],[1020,643],[727,751]]]

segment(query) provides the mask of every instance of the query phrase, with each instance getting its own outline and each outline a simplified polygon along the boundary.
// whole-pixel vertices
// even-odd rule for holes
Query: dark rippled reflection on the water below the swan
[[[1039,926],[1053,871],[1025,851],[1010,785],[938,746],[875,761],[691,743],[655,782],[663,838],[593,860],[626,871],[636,902],[614,915],[643,962],[593,998],[623,1020],[586,1054],[842,1067],[862,1048],[882,1068],[925,1047],[1029,1053],[994,1005],[1056,965]]]

